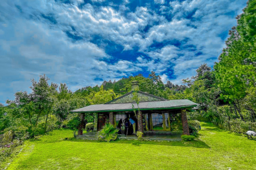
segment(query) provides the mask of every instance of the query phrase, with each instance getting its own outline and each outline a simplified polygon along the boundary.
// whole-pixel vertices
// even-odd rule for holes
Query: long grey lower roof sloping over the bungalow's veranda
[[[75,113],[99,113],[99,112],[124,112],[133,111],[134,108],[138,109],[135,103],[120,103],[120,104],[101,104],[101,105],[90,105],[83,108],[76,109],[71,112]],[[188,99],[182,100],[162,100],[162,101],[146,101],[139,103],[141,111],[147,110],[161,110],[161,109],[178,109],[178,108],[193,108],[197,106],[196,103]]]

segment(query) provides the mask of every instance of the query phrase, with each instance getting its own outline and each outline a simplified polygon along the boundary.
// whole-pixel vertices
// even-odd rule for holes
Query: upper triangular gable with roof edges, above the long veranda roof
[[[118,97],[114,100],[108,101],[105,104],[116,104],[117,100],[122,100],[122,98],[125,98],[127,96],[132,96],[133,92],[134,91],[132,90],[132,91],[128,92],[127,94],[123,95],[123,96],[120,96],[120,97]],[[158,96],[147,94],[146,92],[142,92],[142,91],[138,91],[138,94],[139,94],[139,97],[140,97],[140,101],[164,101],[164,100],[167,100],[167,99],[164,99],[164,98],[161,98],[161,97],[158,97]],[[130,101],[126,99],[126,100],[120,101],[118,103],[132,103],[132,102],[134,102],[131,97],[129,97],[129,98],[130,98]]]

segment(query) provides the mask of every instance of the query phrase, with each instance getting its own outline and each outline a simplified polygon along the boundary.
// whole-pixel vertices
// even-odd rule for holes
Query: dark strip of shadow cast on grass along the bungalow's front
[[[90,143],[107,143],[105,141],[98,141],[98,140],[83,140],[83,139],[76,139],[76,138],[71,138],[66,141],[71,141],[71,142],[90,142]],[[163,145],[163,146],[177,146],[177,147],[194,147],[194,148],[210,148],[208,145],[206,145],[205,142],[196,139],[194,141],[137,141],[137,140],[115,140],[115,141],[110,141],[109,143],[113,144],[118,144],[118,143],[123,143],[123,144],[133,144],[134,142],[138,143],[139,145]]]

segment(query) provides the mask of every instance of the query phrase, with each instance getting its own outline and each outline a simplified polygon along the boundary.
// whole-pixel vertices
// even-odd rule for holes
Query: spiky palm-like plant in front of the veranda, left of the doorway
[[[118,131],[119,129],[116,129],[112,124],[106,124],[103,126],[103,129],[98,132],[97,137],[101,141],[110,142],[111,140],[116,140]]]

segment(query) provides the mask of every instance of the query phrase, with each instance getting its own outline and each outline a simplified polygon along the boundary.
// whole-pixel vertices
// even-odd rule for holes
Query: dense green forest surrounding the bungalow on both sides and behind
[[[233,132],[256,130],[256,1],[249,1],[237,26],[231,28],[219,61],[213,67],[203,64],[195,76],[182,85],[167,81],[154,71],[77,91],[50,83],[46,75],[31,80],[31,92],[19,91],[14,100],[0,104],[0,134],[12,131],[17,139],[29,139],[59,128],[76,130],[79,116],[70,111],[107,101],[131,91],[131,81],[139,81],[140,91],[169,100],[189,99],[198,104],[191,120],[205,118],[221,129]],[[199,119],[198,118],[198,119]],[[93,122],[93,115],[86,115]]]

